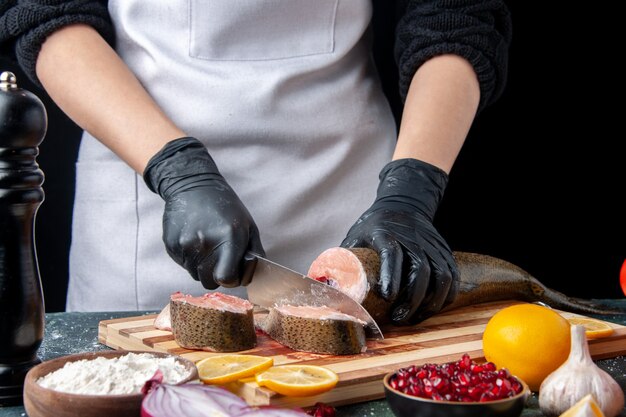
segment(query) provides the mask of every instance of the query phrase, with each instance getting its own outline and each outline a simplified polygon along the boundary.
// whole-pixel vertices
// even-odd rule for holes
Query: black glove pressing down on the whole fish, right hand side
[[[396,324],[414,324],[438,312],[452,280],[452,251],[433,226],[448,182],[439,168],[416,159],[388,163],[374,204],[350,228],[343,247],[367,247],[380,256],[380,295],[393,303]]]

